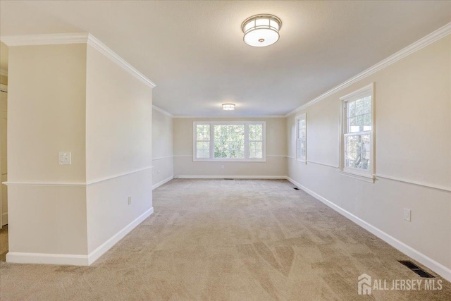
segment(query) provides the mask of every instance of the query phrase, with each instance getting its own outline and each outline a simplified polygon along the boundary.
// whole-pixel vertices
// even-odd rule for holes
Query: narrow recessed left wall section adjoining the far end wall
[[[152,110],[152,189],[174,176],[173,118]]]

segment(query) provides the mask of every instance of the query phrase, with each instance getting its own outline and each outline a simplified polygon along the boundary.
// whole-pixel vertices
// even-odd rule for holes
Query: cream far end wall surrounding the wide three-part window
[[[193,161],[194,121],[265,121],[266,162]],[[174,118],[174,174],[187,177],[273,177],[287,175],[285,118]]]

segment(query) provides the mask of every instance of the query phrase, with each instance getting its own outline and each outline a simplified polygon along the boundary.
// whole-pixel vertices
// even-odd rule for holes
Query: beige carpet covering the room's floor
[[[357,295],[364,273],[421,278],[397,262],[407,256],[285,180],[172,180],[154,190],[154,209],[92,266],[2,262],[0,299],[451,300],[446,281]]]

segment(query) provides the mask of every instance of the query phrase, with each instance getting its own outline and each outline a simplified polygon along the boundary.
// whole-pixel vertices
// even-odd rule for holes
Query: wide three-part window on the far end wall
[[[265,161],[264,122],[195,122],[194,161]]]

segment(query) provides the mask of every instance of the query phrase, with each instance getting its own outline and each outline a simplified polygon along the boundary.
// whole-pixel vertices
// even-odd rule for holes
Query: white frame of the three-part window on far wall
[[[210,157],[197,158],[197,125],[210,125]],[[249,125],[261,124],[263,134],[262,158],[249,158]],[[214,125],[245,125],[245,158],[214,158]],[[194,162],[266,162],[266,121],[194,121],[192,123],[192,161]],[[254,140],[252,140],[254,141]],[[257,140],[255,140],[257,141]]]

